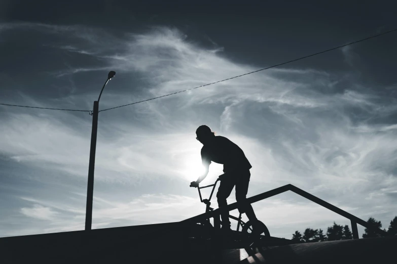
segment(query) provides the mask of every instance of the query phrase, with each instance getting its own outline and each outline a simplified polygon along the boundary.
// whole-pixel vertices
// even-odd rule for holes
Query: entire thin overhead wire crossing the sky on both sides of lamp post
[[[168,95],[158,96],[158,97],[154,97],[154,98],[151,98],[151,99],[146,99],[146,100],[134,102],[134,103],[131,103],[131,104],[126,104],[126,105],[116,106],[116,107],[112,107],[112,108],[107,108],[107,109],[104,109],[104,110],[100,110],[98,112],[107,111],[107,110],[111,110],[111,109],[116,109],[116,108],[129,106],[129,105],[134,105],[134,104],[138,104],[138,103],[143,103],[143,102],[147,102],[147,101],[150,101],[150,100],[155,100],[155,99],[159,99],[159,98],[162,98],[162,97],[175,95],[175,94],[178,94],[178,93],[187,92],[187,91],[194,90],[194,89],[197,89],[197,88],[200,88],[200,87],[204,87],[204,86],[208,86],[208,85],[211,85],[211,84],[215,84],[215,83],[218,83],[218,82],[231,80],[231,79],[234,79],[234,78],[237,78],[237,77],[241,77],[241,76],[244,76],[244,75],[248,75],[248,74],[251,74],[251,73],[267,70],[267,69],[274,68],[274,67],[277,67],[277,66],[280,66],[280,65],[284,65],[284,64],[287,64],[287,63],[291,63],[291,62],[294,62],[294,61],[299,61],[299,60],[302,60],[302,59],[306,59],[306,58],[309,58],[309,57],[312,57],[312,56],[315,56],[315,55],[318,55],[318,54],[321,54],[321,53],[326,53],[326,52],[333,51],[333,50],[336,50],[336,49],[339,49],[339,48],[343,48],[343,47],[352,45],[354,43],[362,42],[364,40],[367,40],[367,39],[370,39],[370,38],[374,38],[374,37],[378,37],[378,36],[381,36],[381,35],[385,35],[385,34],[388,34],[388,33],[394,32],[394,31],[397,31],[397,29],[393,29],[393,30],[390,30],[390,31],[387,31],[387,32],[383,32],[383,33],[377,34],[377,35],[373,35],[373,36],[366,37],[366,38],[363,38],[363,39],[360,39],[360,40],[357,40],[357,41],[353,41],[353,42],[350,42],[350,43],[347,43],[345,45],[341,45],[341,46],[338,46],[338,47],[335,47],[335,48],[332,48],[332,49],[328,49],[328,50],[325,50],[325,51],[322,51],[322,52],[317,52],[317,53],[314,53],[314,54],[311,54],[311,55],[308,55],[308,56],[304,56],[304,57],[301,57],[301,58],[298,58],[298,59],[295,59],[295,60],[279,63],[279,64],[276,64],[276,65],[273,65],[273,66],[270,66],[270,67],[266,67],[266,68],[259,69],[259,70],[256,70],[256,71],[251,71],[251,72],[244,73],[244,74],[241,74],[241,75],[238,75],[238,76],[234,76],[234,77],[231,77],[231,78],[227,78],[227,79],[223,79],[223,80],[207,83],[207,84],[200,85],[200,86],[197,86],[197,87],[193,87],[193,88],[190,88],[190,89],[186,89],[186,90],[183,90],[183,91],[171,93],[171,94],[168,94]],[[9,105],[9,104],[1,104],[1,103],[0,103],[0,105],[17,106],[17,107],[28,107],[28,108],[40,108],[40,109],[51,109],[51,110],[62,110],[62,111],[92,112],[92,110],[74,110],[74,109],[46,108],[46,107],[33,107],[33,106],[22,106],[22,105]]]

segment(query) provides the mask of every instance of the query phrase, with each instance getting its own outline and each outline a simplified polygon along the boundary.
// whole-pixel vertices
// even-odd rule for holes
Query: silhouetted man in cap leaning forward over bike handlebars
[[[204,146],[201,149],[201,160],[205,167],[205,172],[197,181],[190,184],[191,187],[198,187],[205,177],[207,177],[209,164],[211,161],[223,164],[225,172],[221,177],[221,184],[216,194],[218,198],[218,206],[226,206],[226,199],[231,194],[233,187],[236,186],[236,201],[239,203],[239,212],[247,215],[252,223],[254,232],[257,233],[259,225],[257,216],[251,204],[246,202],[249,178],[251,173],[249,169],[252,167],[244,152],[229,139],[221,136],[215,136],[211,129],[206,125],[200,125],[196,130],[197,140]],[[230,231],[229,212],[222,213],[222,231]]]

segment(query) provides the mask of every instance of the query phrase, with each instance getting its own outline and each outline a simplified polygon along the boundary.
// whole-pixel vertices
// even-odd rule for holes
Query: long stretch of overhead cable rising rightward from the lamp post
[[[318,55],[318,54],[321,54],[321,53],[326,53],[326,52],[333,51],[333,50],[336,50],[336,49],[339,49],[339,48],[343,48],[343,47],[352,45],[352,44],[354,44],[354,43],[358,43],[358,42],[361,42],[361,41],[364,41],[364,40],[367,40],[367,39],[370,39],[370,38],[374,38],[374,37],[377,37],[377,36],[381,36],[381,35],[384,35],[384,34],[387,34],[387,33],[391,33],[391,32],[394,32],[394,31],[397,31],[397,29],[393,29],[393,30],[390,30],[390,31],[387,31],[387,32],[384,32],[384,33],[381,33],[381,34],[377,34],[377,35],[374,35],[374,36],[370,36],[370,37],[367,37],[367,38],[363,38],[363,39],[360,39],[360,40],[357,40],[357,41],[353,41],[353,42],[347,43],[347,44],[345,44],[345,45],[341,45],[341,46],[338,46],[338,47],[335,47],[335,48],[332,48],[332,49],[329,49],[329,50],[326,50],[326,51],[317,52],[317,53],[314,53],[314,54],[311,54],[311,55],[308,55],[308,56],[305,56],[305,57],[301,57],[301,58],[298,58],[298,59],[295,59],[295,60],[291,60],[291,61],[279,63],[279,64],[276,64],[276,65],[273,65],[273,66],[270,66],[270,67],[267,67],[267,68],[263,68],[263,69],[260,69],[260,70],[251,71],[251,72],[244,73],[244,74],[241,74],[241,75],[238,75],[238,76],[234,76],[234,77],[227,78],[227,79],[220,80],[220,81],[215,81],[215,82],[207,83],[207,84],[204,84],[204,85],[200,85],[200,86],[197,86],[197,87],[194,87],[194,88],[190,88],[190,89],[187,89],[187,90],[175,92],[175,93],[168,94],[168,95],[163,95],[163,96],[159,96],[159,97],[154,97],[154,98],[151,98],[151,99],[142,100],[142,101],[138,101],[138,102],[131,103],[131,104],[127,104],[127,105],[121,105],[121,106],[116,106],[116,107],[112,107],[112,108],[107,108],[107,109],[104,109],[104,110],[100,110],[99,112],[106,111],[106,110],[111,110],[111,109],[115,109],[115,108],[119,108],[119,107],[123,107],[123,106],[134,105],[134,104],[138,104],[138,103],[142,103],[142,102],[147,102],[147,101],[150,101],[150,100],[154,100],[154,99],[158,99],[158,98],[162,98],[162,97],[166,97],[166,96],[170,96],[170,95],[175,95],[175,94],[178,94],[178,93],[183,93],[183,92],[186,92],[186,91],[190,91],[190,90],[193,90],[193,89],[197,89],[197,88],[200,88],[200,87],[204,87],[204,86],[207,86],[207,85],[211,85],[211,84],[214,84],[214,83],[218,83],[218,82],[222,82],[222,81],[234,79],[234,78],[241,77],[241,76],[244,76],[244,75],[248,75],[248,74],[251,74],[251,73],[255,73],[255,72],[258,72],[258,71],[267,70],[267,69],[274,68],[274,67],[277,67],[277,66],[280,66],[280,65],[284,65],[284,64],[291,63],[291,62],[294,62],[294,61],[299,61],[299,60],[302,60],[302,59],[305,59],[305,58],[309,58],[309,57],[312,57],[312,56],[315,56],[315,55]]]

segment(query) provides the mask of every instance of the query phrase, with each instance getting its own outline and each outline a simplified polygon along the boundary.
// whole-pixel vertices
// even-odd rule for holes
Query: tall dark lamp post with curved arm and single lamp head
[[[92,224],[92,197],[94,193],[94,168],[95,168],[95,149],[96,149],[96,131],[98,129],[98,108],[99,100],[102,95],[103,89],[110,79],[115,77],[116,72],[110,71],[107,74],[107,80],[103,84],[100,91],[98,101],[94,101],[94,110],[92,111],[92,130],[91,130],[91,148],[90,148],[90,163],[88,167],[88,185],[87,185],[87,205],[86,205],[86,227],[85,230],[91,230]]]

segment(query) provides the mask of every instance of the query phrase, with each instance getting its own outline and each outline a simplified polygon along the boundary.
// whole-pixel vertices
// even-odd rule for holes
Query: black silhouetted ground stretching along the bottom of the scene
[[[397,237],[214,251],[177,223],[0,238],[0,263],[395,263]],[[88,235],[87,235],[88,234]],[[272,244],[271,243],[271,244]],[[283,244],[283,245],[282,245]],[[280,246],[282,245],[282,246]]]

